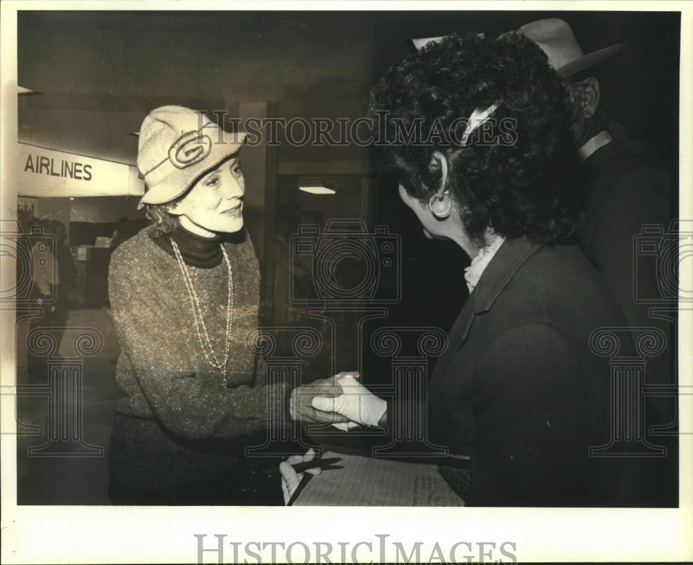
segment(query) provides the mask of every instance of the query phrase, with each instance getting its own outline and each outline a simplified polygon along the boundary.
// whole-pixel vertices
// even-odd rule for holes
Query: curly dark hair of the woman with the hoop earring
[[[565,90],[545,53],[522,33],[496,39],[455,33],[428,44],[391,67],[371,89],[369,115],[390,112],[386,131],[379,134],[392,139],[393,118],[405,127],[420,121],[423,132],[449,131],[475,108],[493,103],[498,109],[492,119],[464,146],[459,136],[428,144],[389,143],[387,163],[407,193],[423,202],[437,191],[441,178],[439,168],[430,168],[432,154],[444,153],[450,168],[447,188],[476,241],[483,241],[489,226],[509,238],[567,238],[577,227],[579,202],[570,182],[574,152]],[[503,123],[514,128],[510,137]],[[489,134],[498,134],[494,139],[501,142],[481,143]]]

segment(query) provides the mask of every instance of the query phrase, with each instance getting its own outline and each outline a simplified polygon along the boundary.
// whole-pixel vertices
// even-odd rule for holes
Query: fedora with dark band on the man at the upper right
[[[568,22],[558,18],[532,21],[522,26],[520,31],[546,53],[549,64],[556,69],[556,73],[561,78],[568,78],[594,67],[626,49],[624,44],[619,43],[585,55]],[[421,51],[430,42],[437,43],[444,39],[445,36],[423,37],[412,40],[412,44],[414,44],[416,51]]]

